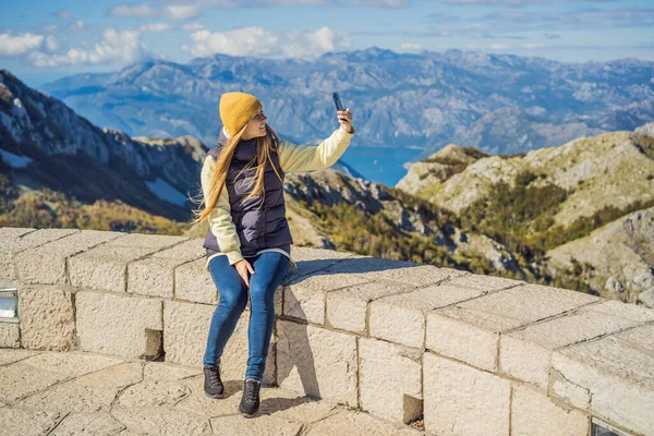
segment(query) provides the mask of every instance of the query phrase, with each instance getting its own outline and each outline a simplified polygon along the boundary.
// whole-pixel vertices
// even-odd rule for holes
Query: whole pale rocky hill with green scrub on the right
[[[654,123],[512,156],[450,144],[397,187],[567,287],[654,305]]]

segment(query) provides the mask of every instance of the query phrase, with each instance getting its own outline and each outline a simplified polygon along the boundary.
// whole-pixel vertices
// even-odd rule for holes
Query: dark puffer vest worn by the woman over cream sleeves
[[[221,129],[218,145],[209,150],[207,159],[218,160],[227,141]],[[264,173],[264,203],[261,208],[258,208],[261,197],[245,199],[249,189],[254,187],[256,169],[249,168],[237,180],[237,174],[247,166],[247,162],[252,160],[251,167],[256,165],[256,138],[239,142],[227,173],[226,186],[229,193],[231,216],[241,240],[243,256],[254,256],[258,250],[272,247],[282,249],[290,254],[290,244],[293,243],[286,218],[284,173],[279,166],[277,152],[271,152],[270,159],[281,177],[281,181],[272,170],[270,162],[267,162]],[[210,230],[207,231],[203,246],[207,250],[207,255],[220,252],[216,237]]]

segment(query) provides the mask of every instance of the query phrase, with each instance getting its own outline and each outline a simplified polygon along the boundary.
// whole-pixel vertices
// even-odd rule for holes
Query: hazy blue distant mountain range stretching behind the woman
[[[450,142],[513,154],[633,130],[654,119],[653,76],[654,62],[635,59],[564,63],[373,47],[313,61],[225,55],[185,64],[150,60],[111,74],[64,77],[43,90],[97,125],[210,143],[220,128],[220,95],[238,89],[262,100],[270,125],[287,140],[307,144],[335,128],[330,94],[338,90],[355,116],[354,146],[420,148],[420,160]]]

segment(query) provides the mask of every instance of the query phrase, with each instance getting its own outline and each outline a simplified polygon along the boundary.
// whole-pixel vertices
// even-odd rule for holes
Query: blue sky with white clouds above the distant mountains
[[[373,46],[654,61],[652,0],[9,1],[0,69],[29,86],[147,59],[313,59]]]

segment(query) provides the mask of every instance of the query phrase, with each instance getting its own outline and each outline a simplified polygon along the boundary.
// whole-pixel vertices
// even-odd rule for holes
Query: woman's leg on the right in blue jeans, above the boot
[[[253,268],[254,275],[250,276],[251,312],[245,378],[261,382],[275,325],[275,291],[288,271],[289,258],[281,253],[265,252],[255,258]]]

